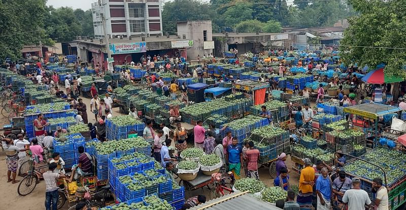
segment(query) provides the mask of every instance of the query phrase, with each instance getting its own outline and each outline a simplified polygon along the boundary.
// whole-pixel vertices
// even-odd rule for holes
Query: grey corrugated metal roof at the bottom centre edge
[[[204,209],[204,210],[224,210],[224,209],[281,210],[280,208],[278,208],[272,204],[269,204],[267,202],[264,202],[262,200],[256,199],[249,194],[242,194],[242,195],[233,197],[236,194],[238,194],[238,193],[232,193],[232,194],[225,195],[225,196],[222,196],[222,197],[214,199],[214,200],[209,200],[204,204],[200,204],[200,205],[192,207],[190,209],[191,210],[198,210],[198,209]],[[224,201],[222,201],[222,200],[224,200]],[[217,203],[217,202],[219,202],[219,203]],[[216,203],[216,204],[211,205],[213,203]]]

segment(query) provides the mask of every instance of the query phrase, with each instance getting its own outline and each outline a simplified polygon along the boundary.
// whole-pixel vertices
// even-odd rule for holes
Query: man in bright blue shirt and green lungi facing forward
[[[227,146],[225,158],[228,160],[228,170],[233,172],[234,178],[240,178],[240,170],[243,165],[243,148],[237,144],[237,138],[232,138],[232,144]]]

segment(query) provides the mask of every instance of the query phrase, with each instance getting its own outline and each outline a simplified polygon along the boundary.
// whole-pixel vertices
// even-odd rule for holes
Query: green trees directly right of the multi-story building
[[[196,0],[166,2],[162,9],[163,31],[176,34],[178,21],[210,20],[213,12],[210,5]]]

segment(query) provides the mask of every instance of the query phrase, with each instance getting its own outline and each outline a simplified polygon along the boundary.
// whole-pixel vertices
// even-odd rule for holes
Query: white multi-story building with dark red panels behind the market
[[[104,38],[103,21],[107,34],[136,37],[162,35],[161,0],[100,0],[92,3],[95,38]]]

